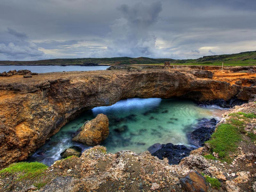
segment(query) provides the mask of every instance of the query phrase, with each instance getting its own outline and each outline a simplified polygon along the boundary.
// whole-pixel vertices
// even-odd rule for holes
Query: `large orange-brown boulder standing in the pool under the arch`
[[[95,146],[104,141],[108,134],[108,117],[104,114],[99,114],[96,118],[84,124],[82,131],[72,140],[88,146]]]

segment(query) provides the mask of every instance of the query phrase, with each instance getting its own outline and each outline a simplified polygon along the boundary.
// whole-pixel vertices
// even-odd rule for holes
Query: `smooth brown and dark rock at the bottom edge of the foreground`
[[[190,172],[184,178],[180,179],[182,188],[189,192],[206,192],[207,186],[204,177],[198,172]]]

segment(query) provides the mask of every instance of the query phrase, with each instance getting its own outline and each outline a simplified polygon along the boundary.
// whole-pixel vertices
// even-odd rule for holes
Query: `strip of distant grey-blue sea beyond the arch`
[[[10,70],[28,69],[33,73],[49,73],[49,72],[62,72],[62,71],[95,71],[105,70],[109,66],[59,66],[59,65],[0,65],[0,73]]]

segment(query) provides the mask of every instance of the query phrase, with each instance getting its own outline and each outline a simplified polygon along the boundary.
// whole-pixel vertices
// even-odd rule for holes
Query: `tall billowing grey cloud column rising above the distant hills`
[[[99,56],[156,57],[156,36],[150,31],[158,20],[162,4],[123,4],[118,10],[122,17],[111,25],[108,48],[98,52]]]

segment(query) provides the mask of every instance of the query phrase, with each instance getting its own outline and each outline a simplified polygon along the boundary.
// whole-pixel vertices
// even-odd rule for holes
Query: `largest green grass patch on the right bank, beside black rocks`
[[[229,152],[236,150],[236,142],[241,135],[236,126],[232,124],[220,124],[212,137],[206,143],[210,144],[212,152],[218,153],[221,160],[230,162]]]

